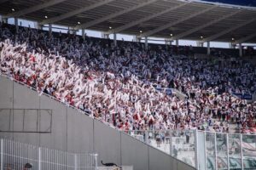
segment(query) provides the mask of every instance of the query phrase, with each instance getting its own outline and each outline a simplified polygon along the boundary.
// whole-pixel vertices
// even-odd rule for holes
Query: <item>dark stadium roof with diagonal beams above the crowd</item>
[[[139,37],[256,42],[255,8],[193,0],[0,0],[0,14]]]

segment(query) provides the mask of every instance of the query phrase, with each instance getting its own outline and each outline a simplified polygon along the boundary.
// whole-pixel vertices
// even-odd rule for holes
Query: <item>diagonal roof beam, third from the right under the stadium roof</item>
[[[223,17],[218,18],[217,20],[212,20],[212,21],[208,22],[205,25],[195,27],[194,29],[190,29],[189,31],[185,31],[185,32],[183,32],[181,34],[178,34],[177,36],[173,37],[173,39],[180,39],[180,38],[186,37],[186,36],[192,34],[195,31],[200,31],[201,29],[206,28],[207,26],[212,26],[213,24],[218,23],[221,20],[225,20],[227,18],[230,18],[231,16],[240,13],[241,11],[242,10],[237,10],[236,12],[233,12],[231,14],[227,14],[227,15],[224,15]]]

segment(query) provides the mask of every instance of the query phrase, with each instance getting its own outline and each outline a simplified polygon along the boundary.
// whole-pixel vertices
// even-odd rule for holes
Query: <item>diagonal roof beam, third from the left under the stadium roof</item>
[[[92,20],[92,21],[90,21],[88,23],[84,23],[81,26],[76,26],[75,29],[79,30],[79,29],[82,29],[82,28],[88,28],[90,26],[95,26],[96,24],[99,24],[99,23],[104,22],[106,20],[113,19],[113,18],[115,18],[115,17],[117,17],[119,15],[125,14],[125,13],[129,13],[129,12],[131,12],[133,10],[136,10],[137,8],[142,8],[142,7],[144,7],[144,6],[148,5],[148,4],[154,3],[156,1],[157,0],[149,0],[146,3],[140,3],[138,5],[135,5],[135,6],[131,7],[131,8],[125,8],[124,10],[121,10],[121,11],[119,11],[117,13],[109,14],[109,15],[107,15],[105,17],[102,17],[102,18],[100,18],[98,20]]]

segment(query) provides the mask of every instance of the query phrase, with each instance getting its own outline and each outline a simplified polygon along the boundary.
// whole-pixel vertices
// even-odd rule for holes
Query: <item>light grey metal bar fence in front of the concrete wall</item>
[[[14,140],[0,139],[0,170],[96,170],[97,155],[50,150]],[[26,167],[28,166],[28,167]]]

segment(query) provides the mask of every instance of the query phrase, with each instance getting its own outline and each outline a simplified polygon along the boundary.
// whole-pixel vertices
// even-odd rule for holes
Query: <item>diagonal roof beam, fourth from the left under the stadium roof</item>
[[[172,10],[175,10],[175,9],[177,9],[177,8],[182,8],[183,6],[185,6],[185,5],[187,5],[187,4],[189,4],[189,3],[181,3],[181,4],[177,5],[177,6],[174,6],[174,7],[172,7],[172,8],[167,8],[166,10],[163,10],[163,11],[161,11],[161,12],[159,12],[159,13],[156,13],[156,14],[149,15],[149,16],[147,16],[147,17],[145,17],[145,18],[140,19],[140,20],[134,20],[134,21],[132,21],[132,22],[129,23],[129,24],[126,24],[126,25],[124,25],[124,26],[119,26],[119,27],[113,29],[112,31],[109,31],[109,34],[113,34],[114,32],[124,31],[124,30],[126,30],[126,29],[128,29],[128,28],[131,28],[132,26],[137,26],[138,24],[141,24],[141,23],[143,23],[143,22],[145,22],[145,21],[154,19],[155,17],[158,17],[158,16],[160,16],[160,15],[162,15],[162,14],[169,13],[169,12],[171,12]]]

